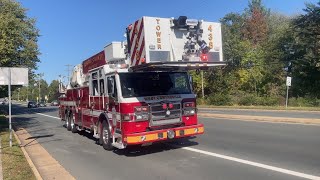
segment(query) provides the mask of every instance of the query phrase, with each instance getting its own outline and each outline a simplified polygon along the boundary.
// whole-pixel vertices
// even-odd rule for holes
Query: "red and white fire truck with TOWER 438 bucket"
[[[142,17],[126,38],[74,67],[59,99],[67,129],[106,150],[203,134],[188,70],[225,65],[221,25]]]

